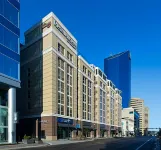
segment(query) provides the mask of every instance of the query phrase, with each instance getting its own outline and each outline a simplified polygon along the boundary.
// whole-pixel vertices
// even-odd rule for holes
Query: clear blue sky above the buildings
[[[53,11],[78,40],[83,57],[103,70],[110,54],[130,50],[132,97],[150,108],[150,126],[161,127],[160,0],[21,0],[23,33]]]

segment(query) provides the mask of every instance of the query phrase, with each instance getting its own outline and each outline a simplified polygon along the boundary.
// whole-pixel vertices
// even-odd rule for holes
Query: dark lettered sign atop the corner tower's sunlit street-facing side
[[[59,25],[59,23],[54,20],[55,27],[62,33],[62,35],[67,39],[67,42],[76,50],[77,46],[75,41],[69,36],[69,34]]]

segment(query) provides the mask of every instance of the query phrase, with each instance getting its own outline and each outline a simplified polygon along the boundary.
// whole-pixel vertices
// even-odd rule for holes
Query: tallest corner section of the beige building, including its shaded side
[[[77,40],[52,12],[25,32],[21,63],[19,135],[75,137]]]

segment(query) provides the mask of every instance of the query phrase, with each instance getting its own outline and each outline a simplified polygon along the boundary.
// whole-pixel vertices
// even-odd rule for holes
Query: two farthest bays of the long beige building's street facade
[[[121,133],[122,97],[121,91],[112,81],[107,80],[107,124],[110,125],[110,136]]]

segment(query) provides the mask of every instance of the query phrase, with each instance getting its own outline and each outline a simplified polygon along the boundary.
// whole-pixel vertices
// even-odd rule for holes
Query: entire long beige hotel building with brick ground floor
[[[108,81],[97,69],[78,56],[77,40],[52,12],[27,30],[21,47],[19,136],[47,140],[110,136]],[[117,94],[121,99],[114,88]],[[119,113],[119,108],[114,110]],[[117,129],[120,119],[112,118]]]

